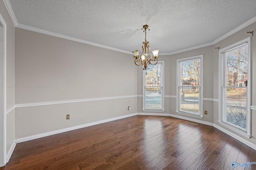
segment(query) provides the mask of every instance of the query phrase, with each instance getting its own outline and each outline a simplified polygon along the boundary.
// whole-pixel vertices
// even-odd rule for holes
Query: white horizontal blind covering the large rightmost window
[[[222,121],[246,131],[248,44],[222,53]]]

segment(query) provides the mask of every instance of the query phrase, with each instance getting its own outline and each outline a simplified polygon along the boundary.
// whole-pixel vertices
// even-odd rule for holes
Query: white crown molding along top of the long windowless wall
[[[106,45],[93,43],[93,42],[90,42],[90,41],[70,37],[70,36],[67,36],[67,35],[62,35],[62,34],[59,34],[59,33],[54,33],[54,32],[51,32],[51,31],[46,31],[44,29],[39,29],[39,28],[31,27],[31,26],[28,26],[28,25],[20,24],[20,23],[18,23],[16,25],[16,27],[22,28],[22,29],[27,29],[27,30],[30,30],[30,31],[38,32],[38,33],[43,33],[43,34],[46,34],[46,35],[51,35],[51,36],[54,36],[54,37],[68,39],[68,40],[71,40],[71,41],[76,41],[76,42],[79,42],[79,43],[93,45],[93,46],[101,47],[101,48],[104,48],[104,49],[118,51],[118,52],[121,52],[121,53],[132,54],[132,52],[130,52],[130,51],[125,51],[125,50],[122,50],[122,49],[117,49],[117,48],[114,48],[114,47],[109,47],[109,46],[106,46]]]

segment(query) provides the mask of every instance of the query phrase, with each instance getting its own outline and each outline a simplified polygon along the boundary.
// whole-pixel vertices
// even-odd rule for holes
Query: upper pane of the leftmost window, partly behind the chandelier
[[[145,86],[162,86],[161,80],[161,64],[148,65],[149,70],[146,70]]]

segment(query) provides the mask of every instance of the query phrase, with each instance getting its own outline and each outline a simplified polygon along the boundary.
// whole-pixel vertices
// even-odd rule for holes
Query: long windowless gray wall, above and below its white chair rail
[[[137,112],[132,55],[20,28],[15,45],[16,139]]]

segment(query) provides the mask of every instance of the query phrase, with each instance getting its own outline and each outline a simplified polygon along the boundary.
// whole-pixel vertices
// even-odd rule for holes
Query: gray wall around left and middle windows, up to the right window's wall
[[[164,98],[164,113],[170,113],[172,115],[180,116],[176,113],[176,59],[182,59],[187,57],[193,57],[198,55],[203,55],[203,80],[204,80],[204,91],[203,97],[213,99],[213,46],[203,47],[191,51],[186,51],[183,53],[178,53],[174,55],[160,55],[159,60],[164,61],[164,90],[166,96]],[[142,68],[138,69],[138,94],[142,95]],[[140,80],[140,82],[139,82]],[[170,97],[171,96],[171,97]],[[142,97],[138,97],[138,112],[142,111]],[[204,115],[203,119],[198,119],[206,122],[213,122],[213,102],[205,100],[203,103],[203,109],[208,110],[208,115]],[[183,115],[182,115],[183,116]],[[186,117],[186,116],[183,116]],[[193,117],[193,119],[196,119]]]

